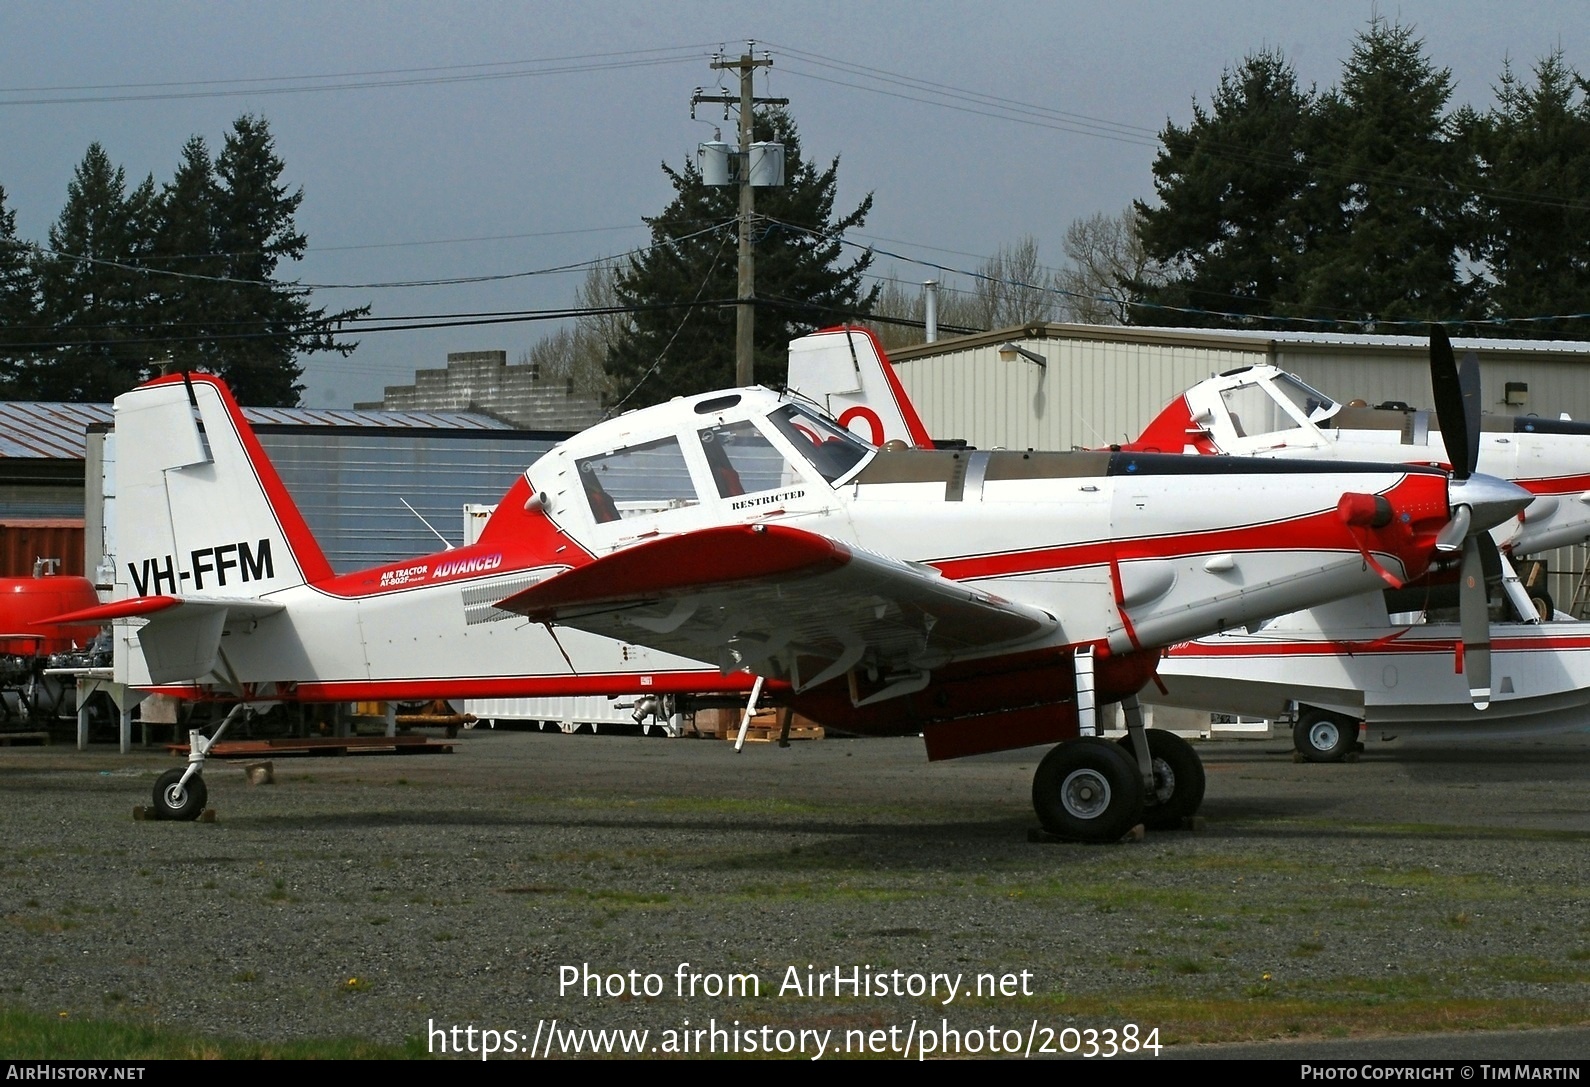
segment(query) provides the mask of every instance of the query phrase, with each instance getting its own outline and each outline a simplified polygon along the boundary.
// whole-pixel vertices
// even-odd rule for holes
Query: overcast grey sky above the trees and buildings
[[[103,143],[130,184],[148,173],[164,183],[189,135],[218,149],[232,119],[256,113],[305,194],[310,253],[286,269],[293,278],[552,269],[646,243],[641,216],[671,195],[658,165],[682,164],[711,137],[688,108],[698,86],[719,79],[711,56],[738,56],[754,40],[774,62],[757,94],[790,99],[809,156],[840,156],[841,207],[874,194],[855,240],[971,269],[1032,234],[1057,264],[1072,219],[1153,195],[1154,133],[1167,118],[1185,122],[1194,97],[1207,102],[1224,68],[1275,46],[1305,86],[1323,89],[1377,11],[1417,27],[1452,70],[1453,105],[1488,105],[1507,57],[1526,73],[1561,48],[1590,68],[1582,0],[3,0],[0,186],[17,232],[43,242],[89,143]],[[326,86],[337,89],[305,89]],[[722,124],[711,106],[703,116]],[[943,275],[892,256],[874,267],[913,281]],[[321,289],[316,304],[369,302],[377,316],[550,308],[569,305],[580,278]],[[347,359],[308,359],[304,400],[375,399],[447,351],[504,348],[517,359],[549,331],[367,334]],[[723,332],[733,335],[731,319]]]

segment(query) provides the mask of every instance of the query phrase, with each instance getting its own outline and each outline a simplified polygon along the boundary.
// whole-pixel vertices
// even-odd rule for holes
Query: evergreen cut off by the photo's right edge
[[[1490,270],[1490,315],[1547,316],[1590,308],[1590,97],[1561,52],[1541,60],[1534,86],[1503,70],[1496,106],[1474,121],[1483,222],[1477,256]],[[1506,329],[1585,335],[1590,323]]]

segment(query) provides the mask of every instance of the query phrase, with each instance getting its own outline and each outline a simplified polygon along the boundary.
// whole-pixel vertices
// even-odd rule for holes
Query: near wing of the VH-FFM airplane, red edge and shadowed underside
[[[498,607],[716,661],[725,675],[746,667],[797,690],[859,664],[925,682],[925,671],[948,660],[1019,645],[1059,626],[1041,609],[932,567],[776,524],[649,540]]]

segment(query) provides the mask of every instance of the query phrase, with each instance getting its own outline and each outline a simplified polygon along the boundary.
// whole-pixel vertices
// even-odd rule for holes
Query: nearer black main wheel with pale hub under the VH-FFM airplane
[[[1113,842],[1143,822],[1143,782],[1137,764],[1110,741],[1067,741],[1038,763],[1032,806],[1051,834]]]

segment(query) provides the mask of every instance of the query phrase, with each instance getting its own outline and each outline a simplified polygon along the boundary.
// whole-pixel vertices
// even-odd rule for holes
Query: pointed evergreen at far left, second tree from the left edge
[[[40,323],[51,346],[24,369],[29,399],[103,402],[149,377],[148,284],[129,269],[148,251],[154,203],[153,178],[129,194],[126,172],[89,146],[49,227]]]

